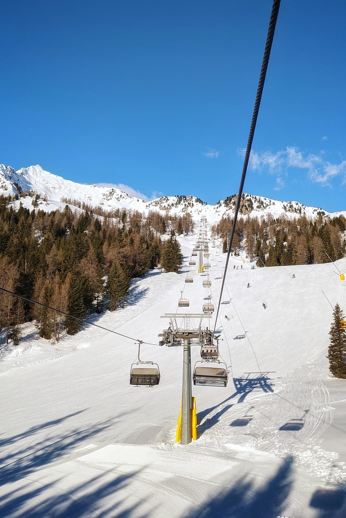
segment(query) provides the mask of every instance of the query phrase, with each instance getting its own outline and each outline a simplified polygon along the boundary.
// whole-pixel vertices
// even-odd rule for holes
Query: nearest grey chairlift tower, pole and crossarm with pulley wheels
[[[200,313],[165,313],[161,319],[169,319],[168,329],[164,329],[159,337],[163,337],[160,345],[168,347],[183,347],[183,389],[182,389],[182,439],[181,444],[191,442],[191,346],[199,346],[204,343],[206,337],[214,334],[207,327],[202,327],[203,319],[209,319],[210,315]],[[197,326],[192,320],[199,319]],[[178,324],[179,322],[179,324]]]

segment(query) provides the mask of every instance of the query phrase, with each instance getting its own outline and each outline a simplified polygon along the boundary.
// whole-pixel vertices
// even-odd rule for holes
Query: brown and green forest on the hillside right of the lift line
[[[228,246],[233,219],[222,218],[212,226],[212,236],[222,238],[224,249]],[[280,266],[295,264],[328,263],[344,256],[346,219],[340,215],[336,218],[307,218],[300,215],[290,219],[285,214],[273,218],[271,214],[258,219],[238,218],[232,252],[238,254],[242,248],[246,256],[256,265]],[[243,245],[243,246],[242,246]]]

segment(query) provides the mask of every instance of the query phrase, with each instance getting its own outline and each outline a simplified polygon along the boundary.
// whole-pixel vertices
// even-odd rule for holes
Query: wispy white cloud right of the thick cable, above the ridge
[[[240,154],[244,155],[244,151],[241,150]],[[295,147],[287,147],[275,154],[270,151],[261,153],[252,151],[249,165],[253,171],[267,170],[269,174],[276,175],[275,190],[284,186],[282,175],[287,175],[289,167],[305,169],[308,179],[321,185],[330,186],[330,180],[336,176],[342,176],[342,183],[346,183],[346,161],[342,161],[340,164],[331,164],[325,160],[324,154],[320,152],[319,154],[309,153],[305,155]]]

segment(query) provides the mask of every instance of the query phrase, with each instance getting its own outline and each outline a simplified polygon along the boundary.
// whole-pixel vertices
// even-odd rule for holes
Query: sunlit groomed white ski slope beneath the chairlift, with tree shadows
[[[200,313],[206,277],[191,267],[193,284],[184,282],[196,239],[179,237],[181,274],[150,271],[126,308],[94,321],[158,343],[168,324],[160,315],[177,311],[181,290],[187,311]],[[210,242],[215,308],[225,259]],[[0,362],[0,515],[345,516],[346,383],[328,375],[332,308],[322,291],[344,306],[331,264],[251,270],[231,257],[216,326],[229,383],[192,388],[199,438],[186,447],[174,442],[182,348],[142,347],[161,371],[149,388],[129,385],[130,340],[92,326],[50,349],[28,339],[21,356]]]

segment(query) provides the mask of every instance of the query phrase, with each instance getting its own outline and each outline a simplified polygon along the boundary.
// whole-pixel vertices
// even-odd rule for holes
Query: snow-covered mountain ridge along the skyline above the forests
[[[216,205],[207,205],[195,196],[162,196],[160,198],[144,202],[144,200],[131,197],[117,188],[99,187],[96,185],[85,185],[71,180],[65,180],[60,176],[51,174],[42,169],[39,165],[24,167],[15,171],[12,167],[0,165],[0,195],[16,194],[20,190],[32,191],[46,196],[48,203],[41,207],[44,210],[53,210],[57,207],[64,207],[62,198],[75,199],[78,202],[85,202],[93,207],[99,206],[105,210],[126,208],[148,212],[158,210],[162,213],[184,213],[189,212],[193,219],[199,220],[205,215],[210,222],[218,221],[221,217],[232,215],[236,203],[236,195],[220,200]],[[31,199],[23,200],[24,205],[29,206]],[[307,207],[299,202],[280,202],[270,198],[244,194],[240,214],[251,216],[267,215],[278,217],[286,213],[288,217],[297,217],[299,214],[315,216],[321,212],[321,208]],[[329,214],[324,211],[325,214]],[[344,212],[330,213],[331,216],[346,215]]]

